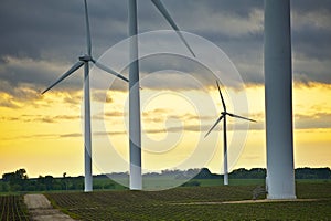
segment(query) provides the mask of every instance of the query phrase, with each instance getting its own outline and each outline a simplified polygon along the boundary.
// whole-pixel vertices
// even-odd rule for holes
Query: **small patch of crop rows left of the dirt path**
[[[23,196],[0,196],[0,220],[30,220]]]

